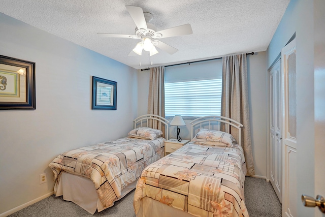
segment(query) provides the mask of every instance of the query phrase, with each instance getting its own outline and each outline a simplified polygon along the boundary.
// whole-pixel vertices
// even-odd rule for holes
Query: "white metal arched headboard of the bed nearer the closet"
[[[238,130],[238,144],[241,144],[241,129],[243,125],[229,117],[223,116],[204,116],[199,117],[190,122],[191,125],[191,138],[193,138],[194,131],[198,131],[200,128],[214,129],[220,131],[221,123],[224,123],[224,131],[230,133],[230,127],[234,127]]]

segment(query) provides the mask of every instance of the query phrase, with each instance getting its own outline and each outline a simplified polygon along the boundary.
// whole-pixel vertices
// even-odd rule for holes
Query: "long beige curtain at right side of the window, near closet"
[[[221,115],[241,122],[242,147],[244,149],[247,175],[254,175],[254,161],[250,138],[250,121],[247,87],[246,54],[222,57]],[[238,135],[233,131],[235,138]]]

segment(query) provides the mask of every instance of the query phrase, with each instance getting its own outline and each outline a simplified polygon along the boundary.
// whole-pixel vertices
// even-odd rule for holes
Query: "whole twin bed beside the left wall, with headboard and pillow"
[[[147,165],[164,157],[168,123],[157,115],[142,115],[134,120],[134,130],[127,137],[59,154],[49,164],[55,196],[91,214],[113,206],[134,190]]]

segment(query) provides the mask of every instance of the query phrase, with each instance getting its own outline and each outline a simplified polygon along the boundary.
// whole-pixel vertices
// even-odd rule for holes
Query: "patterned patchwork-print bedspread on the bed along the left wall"
[[[142,170],[164,156],[165,139],[121,138],[59,154],[49,167],[54,173],[54,193],[60,172],[90,178],[104,208],[121,196],[121,190],[136,181]]]

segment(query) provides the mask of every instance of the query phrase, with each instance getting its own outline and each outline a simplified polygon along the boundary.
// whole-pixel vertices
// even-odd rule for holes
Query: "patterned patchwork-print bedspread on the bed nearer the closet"
[[[248,216],[244,203],[243,149],[190,142],[147,166],[134,197],[150,197],[194,216]]]

